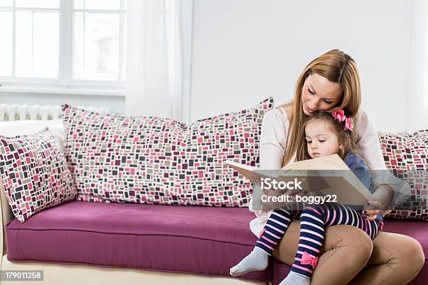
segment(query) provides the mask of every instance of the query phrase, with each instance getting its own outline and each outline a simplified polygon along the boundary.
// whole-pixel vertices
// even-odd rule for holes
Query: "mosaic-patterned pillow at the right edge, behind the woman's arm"
[[[411,187],[410,200],[386,217],[428,221],[428,130],[378,136],[387,168]]]

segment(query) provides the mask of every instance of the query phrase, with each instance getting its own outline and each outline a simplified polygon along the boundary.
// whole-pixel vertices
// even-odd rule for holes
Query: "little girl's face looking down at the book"
[[[315,119],[305,127],[306,145],[311,158],[337,154],[343,145],[340,145],[338,136],[331,131],[329,122]]]

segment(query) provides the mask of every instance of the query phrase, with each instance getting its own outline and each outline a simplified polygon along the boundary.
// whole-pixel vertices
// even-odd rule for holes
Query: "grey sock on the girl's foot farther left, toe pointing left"
[[[267,268],[268,263],[269,254],[263,249],[255,247],[240,263],[230,268],[230,275],[236,277],[251,271],[262,271]]]

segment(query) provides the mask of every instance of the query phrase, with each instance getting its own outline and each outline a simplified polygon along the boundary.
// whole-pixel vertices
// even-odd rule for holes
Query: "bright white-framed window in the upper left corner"
[[[0,83],[123,89],[125,0],[0,0]]]

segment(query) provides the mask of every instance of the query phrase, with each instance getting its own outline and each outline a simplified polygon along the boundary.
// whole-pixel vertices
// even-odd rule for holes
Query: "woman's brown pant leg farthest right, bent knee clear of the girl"
[[[369,262],[349,284],[408,284],[424,263],[424,251],[417,240],[397,233],[380,232],[373,240]]]

